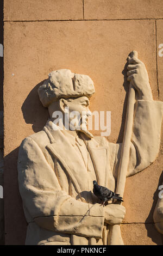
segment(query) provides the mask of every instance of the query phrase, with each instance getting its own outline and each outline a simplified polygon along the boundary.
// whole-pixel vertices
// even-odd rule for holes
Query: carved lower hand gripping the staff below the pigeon
[[[108,204],[104,207],[104,210],[105,222],[110,225],[121,224],[126,214],[126,208],[120,204]]]

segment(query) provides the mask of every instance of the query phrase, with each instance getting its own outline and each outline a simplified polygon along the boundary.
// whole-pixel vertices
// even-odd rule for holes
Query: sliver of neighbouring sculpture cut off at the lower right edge
[[[161,186],[163,188],[163,184]],[[163,234],[163,189],[160,191],[160,197],[158,199],[158,202],[155,206],[154,214],[153,214],[153,220],[155,223],[156,229]]]

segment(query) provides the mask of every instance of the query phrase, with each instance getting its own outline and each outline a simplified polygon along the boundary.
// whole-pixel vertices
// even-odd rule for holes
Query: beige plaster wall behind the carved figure
[[[99,4],[101,2],[101,4]],[[134,10],[133,10],[134,2]],[[154,100],[163,101],[163,7],[155,1],[4,0],[5,243],[23,244],[26,220],[17,184],[18,147],[48,118],[37,88],[52,70],[71,69],[95,83],[91,110],[111,111],[110,142],[122,142],[127,104],[126,58],[136,50],[146,64]],[[94,131],[94,135],[99,132]],[[150,138],[149,138],[150,139]],[[158,159],[127,179],[121,225],[126,245],[162,245],[153,211],[162,177]]]

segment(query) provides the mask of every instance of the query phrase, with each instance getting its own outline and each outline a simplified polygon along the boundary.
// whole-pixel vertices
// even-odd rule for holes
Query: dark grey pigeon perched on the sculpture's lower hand
[[[120,197],[120,194],[116,194],[106,187],[99,186],[96,180],[93,180],[93,193],[96,197],[98,197],[101,200],[101,202],[103,202],[103,206],[105,205],[106,201],[109,201],[111,199],[117,199],[123,202],[122,197]]]

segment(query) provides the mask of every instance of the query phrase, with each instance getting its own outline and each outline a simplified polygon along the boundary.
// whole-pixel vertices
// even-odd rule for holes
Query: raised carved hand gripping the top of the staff
[[[148,73],[145,64],[137,58],[137,52],[134,51],[133,57],[128,57],[127,80],[131,82],[137,91],[138,100],[153,100],[152,91],[149,84]]]

